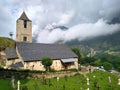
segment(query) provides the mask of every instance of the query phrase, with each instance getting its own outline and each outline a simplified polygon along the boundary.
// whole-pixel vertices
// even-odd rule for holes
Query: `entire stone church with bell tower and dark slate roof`
[[[16,21],[16,45],[7,48],[7,68],[45,71],[42,59],[52,59],[54,70],[78,69],[78,57],[64,44],[32,43],[32,21],[23,12]]]

